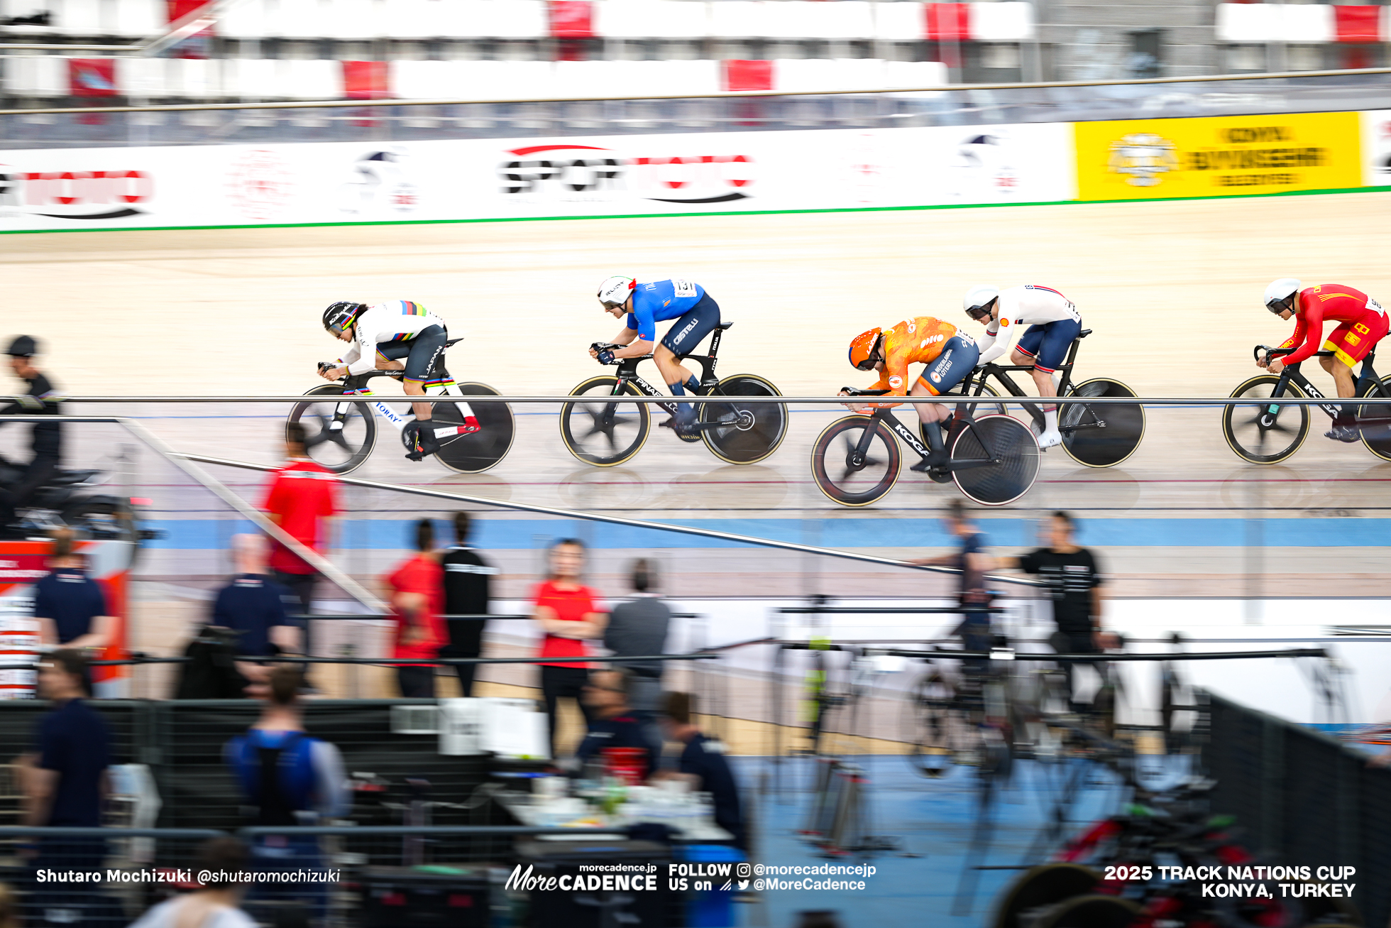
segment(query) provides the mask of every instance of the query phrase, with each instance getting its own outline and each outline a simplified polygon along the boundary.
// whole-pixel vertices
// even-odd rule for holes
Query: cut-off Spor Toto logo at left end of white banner
[[[0,166],[0,206],[53,218],[122,218],[154,195],[145,171],[17,171]]]

